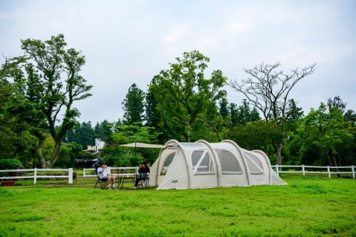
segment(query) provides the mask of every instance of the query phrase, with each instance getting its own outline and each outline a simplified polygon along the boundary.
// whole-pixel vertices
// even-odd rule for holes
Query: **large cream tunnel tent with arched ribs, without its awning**
[[[150,168],[150,186],[157,189],[286,184],[260,150],[242,149],[231,140],[209,143],[171,139]]]

